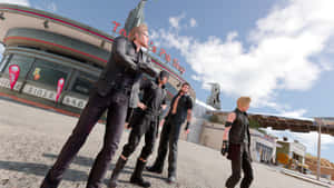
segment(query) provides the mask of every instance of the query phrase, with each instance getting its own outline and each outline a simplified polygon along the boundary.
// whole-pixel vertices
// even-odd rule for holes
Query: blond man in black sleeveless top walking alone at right
[[[254,178],[249,151],[249,120],[246,112],[249,103],[249,97],[240,97],[237,100],[237,108],[227,116],[222,147],[223,155],[225,155],[226,148],[228,148],[227,158],[232,164],[232,176],[225,184],[227,188],[234,188],[237,185],[242,178],[242,169],[244,171],[244,179],[242,180],[240,188],[248,188]]]

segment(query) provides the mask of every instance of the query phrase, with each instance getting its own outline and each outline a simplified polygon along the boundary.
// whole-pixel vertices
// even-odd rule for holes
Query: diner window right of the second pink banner
[[[92,88],[94,83],[98,80],[98,77],[86,73],[86,72],[79,72],[75,85],[72,87],[72,91],[84,95],[84,96],[88,96],[90,89]]]

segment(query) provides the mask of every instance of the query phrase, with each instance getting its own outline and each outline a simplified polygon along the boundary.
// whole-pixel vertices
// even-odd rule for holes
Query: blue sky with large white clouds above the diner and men
[[[139,0],[0,0],[70,18],[111,33]],[[186,68],[185,78],[206,101],[207,82],[222,87],[224,110],[250,96],[250,111],[332,117],[334,111],[333,0],[148,0],[153,40]],[[305,145],[314,133],[288,135]],[[324,157],[334,139],[324,136]],[[315,147],[308,151],[316,154]]]

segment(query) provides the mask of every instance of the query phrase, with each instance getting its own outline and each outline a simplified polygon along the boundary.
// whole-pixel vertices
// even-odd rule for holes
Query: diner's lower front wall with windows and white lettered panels
[[[60,78],[65,78],[59,107],[76,112],[85,107],[89,90],[101,71],[99,68],[73,62],[73,60],[45,51],[11,47],[7,48],[3,61],[1,61],[2,92],[9,92],[6,88],[9,88],[8,67],[10,65],[19,65],[21,68],[14,88],[17,92],[10,92],[11,95],[19,95],[49,106],[59,106],[55,102],[57,82]]]

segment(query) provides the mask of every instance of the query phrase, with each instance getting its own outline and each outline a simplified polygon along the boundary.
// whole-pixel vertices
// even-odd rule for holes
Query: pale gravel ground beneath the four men
[[[0,111],[0,188],[38,188],[77,118],[2,99]],[[104,125],[96,125],[70,169],[65,174],[60,187],[85,188],[89,169],[101,148],[104,131]],[[125,131],[119,148],[124,146],[127,137],[128,132]],[[140,149],[141,147],[138,147],[120,175],[120,188],[136,187],[129,184],[129,178]],[[118,149],[111,162],[106,182],[120,150]],[[155,156],[156,152],[150,159]],[[148,164],[151,164],[151,160]],[[149,180],[154,188],[222,188],[230,174],[229,161],[218,151],[181,140],[176,185],[166,184],[166,168],[163,175],[145,171],[145,179]],[[254,164],[254,171],[253,188],[320,188],[261,164]]]

